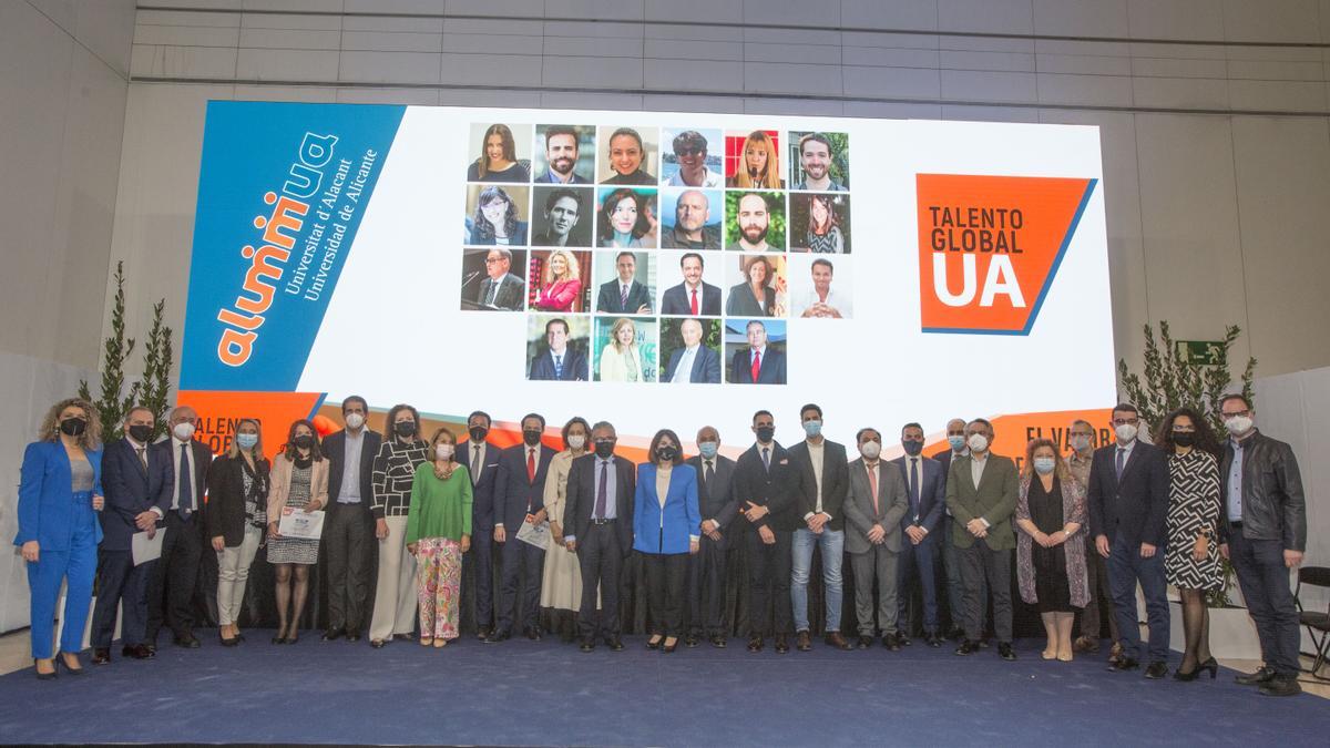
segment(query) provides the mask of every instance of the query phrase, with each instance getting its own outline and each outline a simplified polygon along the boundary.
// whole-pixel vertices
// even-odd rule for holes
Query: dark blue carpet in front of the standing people
[[[1041,642],[1004,663],[920,642],[751,655],[733,639],[662,655],[633,636],[588,655],[548,638],[372,650],[317,632],[274,647],[253,631],[225,650],[201,635],[202,650],[168,644],[82,677],[0,677],[0,741],[1323,747],[1330,735],[1325,699],[1264,697],[1224,669],[1177,683],[1105,672],[1104,655],[1043,661]]]

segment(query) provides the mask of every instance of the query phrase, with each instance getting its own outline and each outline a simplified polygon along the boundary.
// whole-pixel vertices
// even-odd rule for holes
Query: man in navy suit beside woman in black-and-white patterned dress
[[[1116,443],[1095,450],[1089,466],[1089,528],[1099,555],[1108,559],[1113,588],[1113,615],[1123,636],[1123,656],[1109,669],[1140,667],[1138,655],[1149,656],[1145,677],[1168,675],[1169,610],[1164,578],[1164,543],[1168,540],[1169,470],[1164,453],[1136,438],[1140,415],[1136,406],[1113,407]],[[1136,615],[1136,584],[1145,594],[1150,628],[1149,650],[1141,647]]]

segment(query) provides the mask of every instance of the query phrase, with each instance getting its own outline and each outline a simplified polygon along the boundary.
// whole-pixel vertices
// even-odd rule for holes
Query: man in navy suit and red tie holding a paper
[[[545,568],[545,551],[517,539],[523,523],[545,522],[545,474],[555,450],[540,443],[545,431],[545,418],[529,413],[521,419],[521,443],[508,447],[499,457],[495,478],[495,531],[496,543],[503,546],[503,590],[499,596],[499,623],[485,638],[495,644],[512,636],[517,614],[517,587],[521,587],[523,634],[540,640],[540,580]],[[525,583],[519,576],[525,575]]]

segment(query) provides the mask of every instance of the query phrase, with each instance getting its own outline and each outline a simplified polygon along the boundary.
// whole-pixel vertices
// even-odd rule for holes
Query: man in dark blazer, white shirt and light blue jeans
[[[822,583],[826,595],[826,643],[837,650],[849,650],[850,643],[841,634],[841,608],[845,591],[841,584],[841,563],[845,559],[845,498],[850,492],[850,474],[846,467],[845,445],[822,435],[822,407],[809,403],[799,410],[799,422],[806,438],[790,447],[798,484],[794,507],[799,527],[793,538],[793,572],[790,579],[794,604],[795,647],[801,652],[813,648],[809,634],[809,571],[813,552],[822,552]]]

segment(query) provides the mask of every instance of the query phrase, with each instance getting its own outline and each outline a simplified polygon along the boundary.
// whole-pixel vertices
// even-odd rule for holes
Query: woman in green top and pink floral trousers
[[[458,439],[439,429],[432,462],[416,466],[407,511],[407,550],[416,558],[420,644],[436,648],[458,638],[462,554],[471,550],[471,474],[458,465]]]

